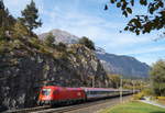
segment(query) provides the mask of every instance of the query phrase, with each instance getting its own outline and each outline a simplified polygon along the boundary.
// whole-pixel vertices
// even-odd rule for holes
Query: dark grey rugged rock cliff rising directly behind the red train
[[[14,49],[0,54],[0,109],[35,106],[42,86],[106,87],[107,76],[95,53],[75,44],[54,58]]]

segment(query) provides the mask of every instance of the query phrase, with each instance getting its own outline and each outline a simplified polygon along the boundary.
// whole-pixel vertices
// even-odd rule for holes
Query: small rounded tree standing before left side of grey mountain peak
[[[55,47],[55,44],[54,44],[54,42],[55,42],[55,37],[54,37],[54,35],[52,34],[52,33],[48,33],[48,35],[46,36],[46,38],[45,38],[45,44],[47,45],[47,46],[50,46],[50,47]]]

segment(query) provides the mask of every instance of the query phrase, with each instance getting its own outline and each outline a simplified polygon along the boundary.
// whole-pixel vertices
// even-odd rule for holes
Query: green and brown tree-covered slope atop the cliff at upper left
[[[66,56],[64,52],[66,45],[59,43],[58,48],[54,44],[55,38],[53,34],[50,34],[45,42],[42,42],[33,33],[33,29],[41,25],[41,21],[37,21],[37,9],[33,0],[26,5],[26,9],[22,11],[23,18],[11,22],[11,16],[8,9],[4,8],[3,1],[0,0],[0,54],[13,53],[14,49],[23,50],[21,54],[36,54],[42,53],[53,58],[63,58]],[[31,38],[29,38],[31,37]],[[20,55],[21,55],[20,54]]]

